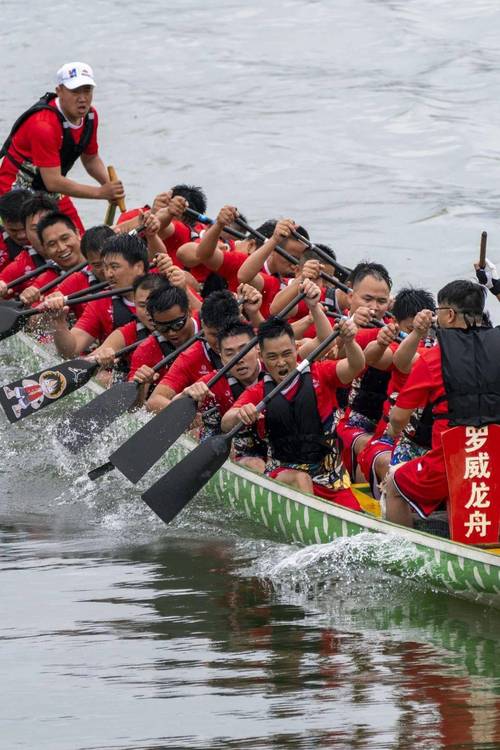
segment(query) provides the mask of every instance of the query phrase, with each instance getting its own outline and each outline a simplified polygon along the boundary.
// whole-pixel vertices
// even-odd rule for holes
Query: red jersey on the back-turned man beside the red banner
[[[401,409],[418,409],[446,395],[441,370],[441,349],[433,346],[421,353],[412,367],[408,380],[396,399]],[[446,399],[435,407],[436,414],[448,411]],[[432,450],[442,451],[441,433],[448,429],[447,419],[435,419],[432,425]]]

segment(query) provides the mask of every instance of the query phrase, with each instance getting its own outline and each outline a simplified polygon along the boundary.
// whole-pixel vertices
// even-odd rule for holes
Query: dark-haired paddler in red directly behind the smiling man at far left
[[[48,258],[46,258],[42,243],[38,238],[37,226],[40,219],[53,211],[57,211],[57,203],[47,193],[33,193],[23,202],[22,221],[28,245],[0,272],[0,297],[19,294],[23,289],[26,289],[31,281],[25,281],[12,289],[7,289],[7,284],[47,263]]]

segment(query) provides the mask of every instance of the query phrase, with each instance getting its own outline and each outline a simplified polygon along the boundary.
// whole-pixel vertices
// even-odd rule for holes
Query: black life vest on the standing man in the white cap
[[[20,161],[13,154],[8,153],[9,148],[12,146],[12,139],[14,135],[17,133],[21,125],[26,122],[26,120],[28,120],[32,115],[36,114],[37,112],[41,112],[44,109],[56,113],[57,117],[59,118],[59,122],[61,123],[63,137],[61,150],[59,153],[61,160],[61,174],[63,176],[67,175],[76,160],[79,159],[79,157],[83,154],[83,152],[89,145],[90,139],[92,138],[92,134],[94,132],[95,117],[94,113],[90,111],[85,115],[80,141],[79,143],[75,143],[73,136],[71,135],[69,122],[57,107],[52,107],[49,104],[49,102],[52,102],[56,98],[56,96],[57,94],[48,91],[35,104],[33,104],[32,107],[23,112],[22,115],[20,115],[15,121],[7,137],[7,140],[0,150],[0,158],[6,156],[7,159],[9,159],[9,161],[11,161],[12,164],[17,167],[17,169],[23,172],[23,174],[28,178],[27,186],[29,186],[29,188],[32,190],[45,190],[46,192],[48,192],[47,187],[45,186],[41,178],[40,170],[34,165],[27,166],[25,164],[25,157],[23,156],[23,154],[17,151],[17,149],[16,154],[19,156]],[[13,148],[15,149],[15,147]]]

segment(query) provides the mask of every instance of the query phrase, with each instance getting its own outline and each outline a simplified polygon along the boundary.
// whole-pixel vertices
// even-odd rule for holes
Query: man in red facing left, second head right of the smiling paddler
[[[104,243],[102,258],[104,274],[111,289],[132,286],[135,279],[148,270],[146,245],[133,235],[110,237]],[[89,302],[71,329],[62,294],[48,297],[43,305],[54,317],[54,343],[66,359],[76,357],[95,341],[104,341],[115,328],[135,319],[133,291]]]

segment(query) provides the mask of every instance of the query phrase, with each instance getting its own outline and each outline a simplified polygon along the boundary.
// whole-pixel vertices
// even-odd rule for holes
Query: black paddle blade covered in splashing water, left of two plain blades
[[[59,442],[71,453],[77,453],[95,436],[112,424],[137,400],[137,383],[116,383],[99,394],[65,420],[57,429]]]

